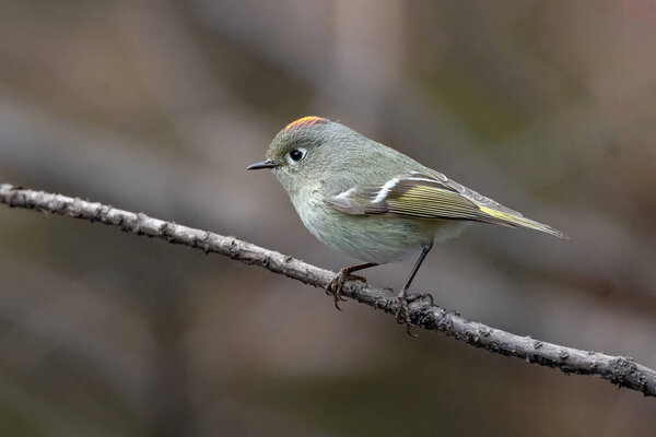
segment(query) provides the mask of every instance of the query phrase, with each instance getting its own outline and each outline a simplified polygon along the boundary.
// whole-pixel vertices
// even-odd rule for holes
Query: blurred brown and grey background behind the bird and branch
[[[656,2],[0,7],[1,182],[337,270],[245,167],[298,117],[342,120],[572,237],[472,226],[415,290],[656,367]],[[0,208],[0,277],[2,436],[656,434],[637,392],[98,224]]]

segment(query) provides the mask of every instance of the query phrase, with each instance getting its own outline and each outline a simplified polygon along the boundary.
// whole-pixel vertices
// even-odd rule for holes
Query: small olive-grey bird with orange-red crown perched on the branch
[[[457,236],[467,222],[563,233],[524,217],[396,150],[339,122],[308,116],[289,123],[269,145],[266,161],[319,241],[364,261],[345,267],[327,285],[339,309],[351,273],[420,252],[398,294],[396,318],[410,327],[408,290],[433,241]],[[430,297],[430,295],[427,296]],[[431,297],[432,300],[432,297]]]

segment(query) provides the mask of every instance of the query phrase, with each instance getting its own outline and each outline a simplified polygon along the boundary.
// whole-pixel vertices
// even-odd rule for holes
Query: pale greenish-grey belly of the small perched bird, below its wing
[[[303,224],[328,247],[365,262],[401,261],[435,238],[457,235],[461,222],[350,215],[320,200],[293,202]]]

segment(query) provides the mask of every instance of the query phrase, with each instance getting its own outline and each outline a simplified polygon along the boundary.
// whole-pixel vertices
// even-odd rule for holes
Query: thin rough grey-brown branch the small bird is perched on
[[[172,244],[201,249],[206,253],[220,253],[247,264],[262,267],[273,273],[283,274],[316,287],[325,287],[335,275],[331,271],[242,241],[235,237],[225,237],[208,231],[152,218],[143,213],[136,214],[61,194],[21,189],[4,184],[0,185],[0,203],[10,208],[50,212],[118,226],[122,231],[137,235],[162,238]],[[356,281],[345,283],[343,295],[393,315],[398,308],[397,298],[389,291]],[[431,331],[440,331],[475,347],[514,356],[528,363],[559,368],[565,374],[596,376],[607,379],[618,387],[637,390],[645,395],[656,395],[656,371],[635,363],[630,357],[581,351],[534,340],[530,336],[515,335],[467,320],[457,312],[442,309],[426,302],[415,302],[410,305],[410,320],[412,324]]]

